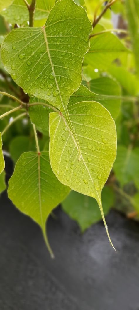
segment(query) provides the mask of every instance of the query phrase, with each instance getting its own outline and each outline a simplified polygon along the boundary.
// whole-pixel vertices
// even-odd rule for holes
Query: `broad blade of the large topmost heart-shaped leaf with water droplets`
[[[58,1],[44,28],[20,28],[2,44],[6,70],[25,92],[64,111],[81,83],[92,25],[72,0]],[[12,59],[12,60],[11,60]]]

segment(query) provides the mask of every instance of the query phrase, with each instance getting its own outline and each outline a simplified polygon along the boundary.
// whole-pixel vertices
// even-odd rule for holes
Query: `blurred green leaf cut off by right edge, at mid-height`
[[[123,145],[118,145],[116,161],[113,166],[116,178],[121,186],[124,186],[130,181],[134,181],[139,188],[139,148],[125,148]]]

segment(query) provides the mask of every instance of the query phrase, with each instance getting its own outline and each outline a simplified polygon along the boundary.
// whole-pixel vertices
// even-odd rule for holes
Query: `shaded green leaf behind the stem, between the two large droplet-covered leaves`
[[[43,99],[31,97],[29,103],[34,102],[48,104],[48,102]],[[36,128],[44,135],[49,135],[49,113],[52,113],[53,110],[45,105],[33,105],[28,109],[28,112],[31,122],[35,124]]]

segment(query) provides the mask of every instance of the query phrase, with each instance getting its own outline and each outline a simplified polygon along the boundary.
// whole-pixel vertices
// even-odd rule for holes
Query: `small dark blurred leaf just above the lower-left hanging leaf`
[[[20,135],[11,140],[10,154],[14,162],[17,162],[21,154],[27,151],[36,151],[35,140],[28,136]]]

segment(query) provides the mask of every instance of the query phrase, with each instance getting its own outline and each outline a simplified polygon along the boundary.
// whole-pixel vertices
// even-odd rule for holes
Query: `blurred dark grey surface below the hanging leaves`
[[[114,210],[84,235],[60,208],[39,226],[0,197],[0,310],[139,310],[139,224]]]

